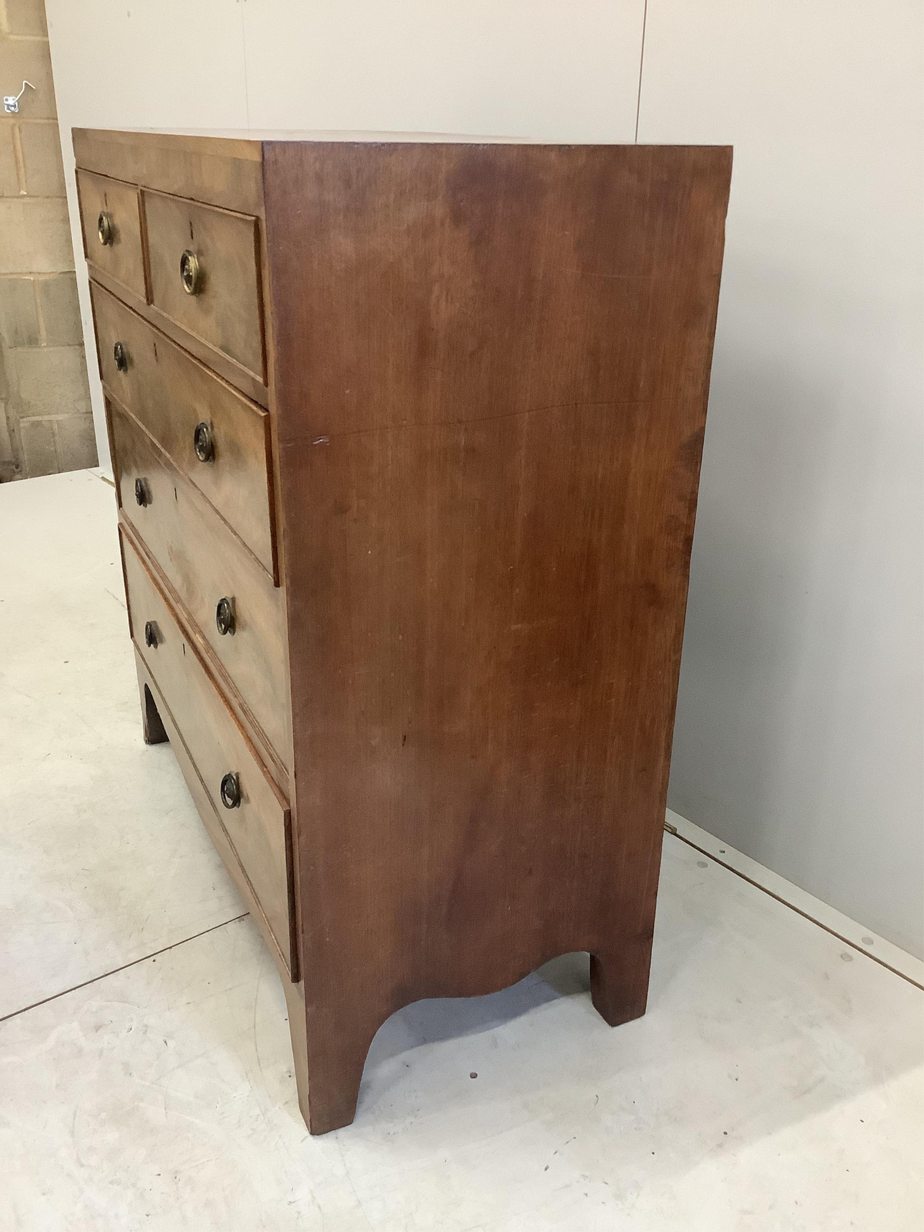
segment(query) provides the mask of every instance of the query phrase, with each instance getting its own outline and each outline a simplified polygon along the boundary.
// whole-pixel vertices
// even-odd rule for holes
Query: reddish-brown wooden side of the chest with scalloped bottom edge
[[[415,998],[644,1010],[729,175],[264,148],[315,1130]]]

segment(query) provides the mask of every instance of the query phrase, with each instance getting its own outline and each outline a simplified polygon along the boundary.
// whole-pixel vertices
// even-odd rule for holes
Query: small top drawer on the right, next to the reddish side
[[[265,383],[256,218],[160,192],[143,198],[152,303]]]

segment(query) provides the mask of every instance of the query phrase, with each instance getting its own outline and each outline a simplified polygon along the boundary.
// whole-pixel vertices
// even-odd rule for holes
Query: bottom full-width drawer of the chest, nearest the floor
[[[293,972],[288,808],[124,535],[122,558],[134,644],[166,702],[286,966]],[[148,644],[147,631],[155,644]],[[241,797],[232,808],[222,802],[222,780],[229,774],[237,775]]]

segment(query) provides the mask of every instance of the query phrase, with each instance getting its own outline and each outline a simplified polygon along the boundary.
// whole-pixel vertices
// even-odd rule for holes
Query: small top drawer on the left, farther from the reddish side
[[[76,180],[86,260],[144,299],[138,188],[90,171],[78,171]]]

